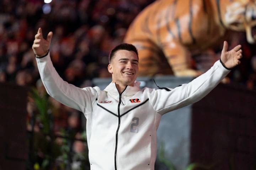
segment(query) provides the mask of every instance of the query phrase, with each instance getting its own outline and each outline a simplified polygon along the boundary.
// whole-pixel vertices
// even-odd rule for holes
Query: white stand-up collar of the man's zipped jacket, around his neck
[[[123,96],[132,96],[135,93],[137,93],[140,88],[139,88],[140,82],[139,81],[134,81],[133,86],[128,86],[126,87],[126,89],[124,90],[124,92],[122,93]],[[104,91],[107,91],[108,93],[111,94],[112,97],[119,97],[119,92],[117,90],[116,84],[115,83],[110,83],[105,89]]]

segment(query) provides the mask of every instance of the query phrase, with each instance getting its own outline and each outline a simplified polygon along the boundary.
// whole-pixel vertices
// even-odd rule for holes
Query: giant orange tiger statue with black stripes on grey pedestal
[[[192,55],[219,43],[226,30],[246,31],[254,43],[254,26],[256,0],[157,0],[135,18],[124,41],[138,48],[140,76],[196,77],[201,72],[192,68]]]

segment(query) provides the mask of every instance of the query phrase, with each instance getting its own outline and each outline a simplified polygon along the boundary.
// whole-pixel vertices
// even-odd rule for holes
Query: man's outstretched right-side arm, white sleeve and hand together
[[[206,96],[219,82],[228,75],[230,70],[240,64],[242,58],[241,45],[227,51],[228,43],[224,41],[220,60],[204,74],[188,84],[182,84],[175,89],[148,89],[149,101],[156,112],[163,115],[175,109],[195,103]]]

